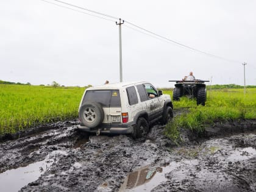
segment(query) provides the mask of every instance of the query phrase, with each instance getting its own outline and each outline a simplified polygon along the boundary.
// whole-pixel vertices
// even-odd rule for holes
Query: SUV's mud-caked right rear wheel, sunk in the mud
[[[149,124],[145,118],[138,118],[136,125],[134,126],[132,137],[141,138],[147,135],[149,132]]]

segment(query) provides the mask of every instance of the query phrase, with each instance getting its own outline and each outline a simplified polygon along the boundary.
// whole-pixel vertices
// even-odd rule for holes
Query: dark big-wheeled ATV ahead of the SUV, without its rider
[[[197,105],[205,105],[206,88],[204,82],[209,82],[209,80],[169,80],[169,82],[176,82],[172,94],[174,101],[179,101],[182,96],[188,96],[189,98],[196,98]]]

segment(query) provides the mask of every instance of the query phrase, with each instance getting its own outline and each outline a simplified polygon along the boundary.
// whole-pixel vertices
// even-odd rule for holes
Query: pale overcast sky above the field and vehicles
[[[148,80],[156,87],[173,87],[168,80],[182,79],[193,71],[196,79],[212,78],[212,84],[243,85],[242,62],[246,62],[246,84],[256,85],[254,0],[63,1],[238,61],[180,48],[130,29],[125,22],[123,81]],[[118,26],[40,0],[2,0],[0,65],[0,79],[11,82],[46,85],[56,81],[66,86],[118,82]]]

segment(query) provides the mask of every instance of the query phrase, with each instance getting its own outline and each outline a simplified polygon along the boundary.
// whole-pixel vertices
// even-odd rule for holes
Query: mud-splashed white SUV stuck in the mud
[[[85,90],[79,105],[79,129],[87,132],[130,133],[140,138],[156,121],[166,124],[173,116],[168,94],[149,82],[117,83]]]

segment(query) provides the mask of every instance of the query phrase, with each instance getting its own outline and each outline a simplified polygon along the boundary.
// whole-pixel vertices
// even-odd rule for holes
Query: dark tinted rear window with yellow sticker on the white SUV
[[[121,107],[119,90],[91,90],[86,91],[83,104],[92,101],[102,107]]]

